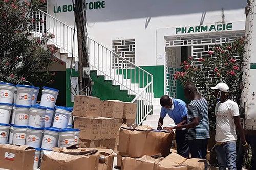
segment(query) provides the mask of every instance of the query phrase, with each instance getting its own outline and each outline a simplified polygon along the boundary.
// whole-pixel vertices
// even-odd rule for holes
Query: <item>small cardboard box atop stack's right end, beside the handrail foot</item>
[[[135,119],[137,103],[123,102],[123,119]]]

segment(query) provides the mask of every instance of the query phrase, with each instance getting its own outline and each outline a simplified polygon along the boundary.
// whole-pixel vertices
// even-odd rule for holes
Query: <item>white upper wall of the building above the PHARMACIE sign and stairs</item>
[[[103,3],[104,8],[87,9],[89,37],[110,49],[112,40],[135,38],[139,66],[163,65],[157,61],[157,56],[164,55],[163,36],[175,35],[175,27],[242,21],[233,28],[239,30],[245,25],[246,0],[105,0]],[[48,1],[48,12],[72,26],[72,11],[54,13],[53,10],[54,6],[57,11],[58,6],[71,4],[71,0]]]

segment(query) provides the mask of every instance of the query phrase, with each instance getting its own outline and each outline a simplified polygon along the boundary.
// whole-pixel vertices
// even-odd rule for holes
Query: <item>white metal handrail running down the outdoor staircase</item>
[[[41,19],[34,26],[35,33],[54,34],[55,38],[50,39],[48,44],[54,44],[61,53],[68,53],[68,57],[73,56],[78,61],[77,31],[41,10],[37,10],[34,17]],[[112,80],[114,85],[120,85],[121,90],[128,90],[128,94],[136,95],[131,102],[137,103],[136,124],[140,125],[153,110],[152,74],[89,37],[87,45],[90,69],[97,70],[105,79]]]

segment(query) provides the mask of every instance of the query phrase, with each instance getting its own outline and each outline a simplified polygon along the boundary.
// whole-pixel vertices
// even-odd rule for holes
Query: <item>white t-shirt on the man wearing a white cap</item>
[[[238,104],[230,99],[223,103],[218,102],[215,107],[215,116],[215,141],[227,142],[237,140],[236,125],[234,124],[233,117],[239,116]]]

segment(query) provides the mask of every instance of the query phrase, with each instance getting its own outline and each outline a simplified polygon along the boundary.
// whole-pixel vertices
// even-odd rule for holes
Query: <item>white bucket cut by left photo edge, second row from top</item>
[[[12,104],[0,103],[0,124],[9,124],[12,112]]]

